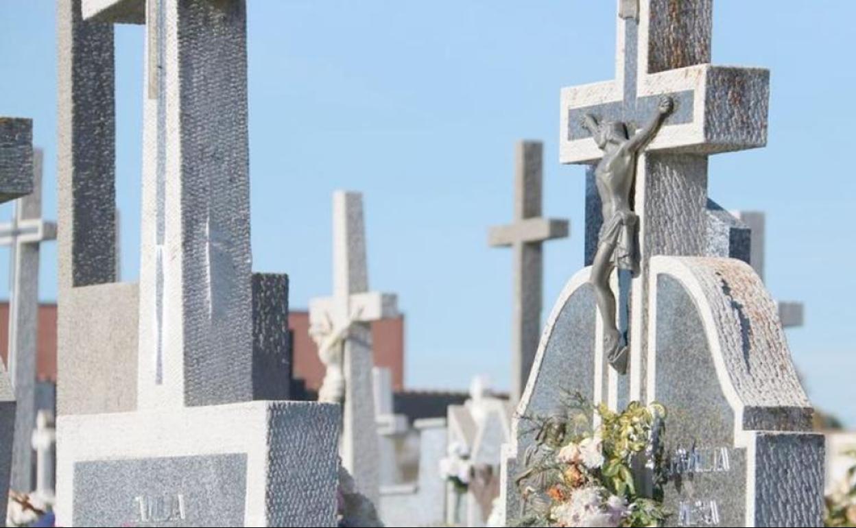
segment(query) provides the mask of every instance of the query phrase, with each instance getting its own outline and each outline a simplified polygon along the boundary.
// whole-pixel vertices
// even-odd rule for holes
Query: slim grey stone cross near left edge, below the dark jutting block
[[[56,223],[41,218],[42,152],[33,156],[33,193],[15,201],[12,222],[0,224],[0,246],[9,246],[9,377],[18,411],[10,487],[33,489],[30,438],[36,423],[36,335],[39,310],[39,245],[56,240]]]

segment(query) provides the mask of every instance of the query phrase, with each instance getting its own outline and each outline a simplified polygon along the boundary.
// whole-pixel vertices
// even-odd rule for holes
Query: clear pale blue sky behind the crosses
[[[35,120],[45,213],[56,217],[56,20],[51,0],[0,2],[0,115]],[[407,384],[508,387],[513,145],[545,142],[544,211],[572,237],[545,252],[544,313],[582,265],[583,173],[558,164],[559,89],[614,74],[612,2],[247,2],[254,269],[291,302],[330,292],[330,195],[365,193],[370,282],[407,313]],[[770,68],[765,149],[713,157],[710,196],[767,212],[767,283],[806,304],[788,331],[811,399],[856,425],[850,0],[719,0],[713,62]],[[117,192],[122,267],[139,270],[143,32],[120,27]],[[849,164],[848,164],[849,163]],[[0,219],[11,214],[0,207]],[[6,250],[0,276],[8,271]],[[56,248],[41,294],[56,298]],[[7,295],[0,283],[0,297]]]

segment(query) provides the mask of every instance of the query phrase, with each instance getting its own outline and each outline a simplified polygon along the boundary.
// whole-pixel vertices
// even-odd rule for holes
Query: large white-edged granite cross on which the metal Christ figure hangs
[[[601,157],[581,116],[626,122],[633,133],[654,116],[663,95],[675,102],[675,111],[638,159],[632,199],[639,215],[641,271],[630,288],[629,377],[606,369],[598,382],[599,396],[611,406],[645,394],[649,259],[704,254],[707,156],[766,143],[769,72],[712,66],[710,0],[688,0],[680,10],[670,5],[669,0],[639,0],[638,6],[620,0],[615,80],[562,90],[562,163],[591,165]]]

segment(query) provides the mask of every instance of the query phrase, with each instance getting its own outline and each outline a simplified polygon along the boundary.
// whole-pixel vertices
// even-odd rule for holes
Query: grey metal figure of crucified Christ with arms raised
[[[615,295],[609,288],[609,275],[617,267],[639,272],[637,262],[636,224],[638,217],[630,206],[630,191],[636,177],[636,156],[657,134],[666,117],[672,112],[672,99],[664,96],[657,106],[657,115],[645,128],[627,135],[623,122],[598,123],[586,114],[582,124],[591,132],[597,146],[603,151],[595,169],[597,193],[603,203],[603,225],[597,239],[597,252],[591,264],[591,286],[594,287],[597,308],[606,327],[603,351],[609,365],[624,374],[627,371],[627,343],[621,342],[621,333],[615,324]]]

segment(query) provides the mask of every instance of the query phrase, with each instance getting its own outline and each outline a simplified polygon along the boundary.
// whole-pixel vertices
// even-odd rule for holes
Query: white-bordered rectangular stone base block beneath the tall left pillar
[[[335,525],[339,435],[336,406],[254,401],[109,415],[66,415],[59,418],[56,433],[58,525],[88,525],[77,517],[78,508],[91,506],[73,498],[73,489],[78,485],[73,476],[80,462],[223,454],[242,454],[247,459],[243,475],[247,509],[237,525]],[[99,442],[92,442],[92,437],[99,438]],[[147,464],[139,469],[129,481],[136,483],[136,493],[163,496],[182,491],[170,485],[173,472],[179,477],[184,475],[181,466]],[[229,472],[226,482],[202,479],[187,480],[181,485],[211,496],[235,493],[238,473]],[[113,491],[98,485],[87,496],[91,500],[112,501]],[[128,522],[133,522],[133,502],[116,505],[122,506],[127,508]],[[191,512],[189,507],[187,512]],[[188,524],[192,522],[187,519]]]

